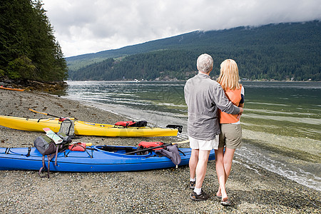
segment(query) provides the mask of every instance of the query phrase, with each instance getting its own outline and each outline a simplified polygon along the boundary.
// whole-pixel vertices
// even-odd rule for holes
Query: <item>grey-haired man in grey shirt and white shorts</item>
[[[225,113],[243,113],[225,96],[223,88],[213,81],[209,74],[213,69],[213,58],[202,54],[197,60],[198,74],[185,83],[185,102],[188,106],[188,138],[190,156],[190,194],[192,200],[207,200],[210,195],[202,190],[208,156],[212,149],[218,149],[220,126],[218,108]]]

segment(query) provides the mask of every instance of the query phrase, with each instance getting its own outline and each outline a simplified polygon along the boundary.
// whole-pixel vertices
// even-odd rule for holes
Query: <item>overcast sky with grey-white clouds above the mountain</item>
[[[43,0],[64,56],[190,31],[321,20],[320,0]]]

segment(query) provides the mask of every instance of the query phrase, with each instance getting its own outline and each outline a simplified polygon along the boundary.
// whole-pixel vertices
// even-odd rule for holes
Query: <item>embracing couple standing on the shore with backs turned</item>
[[[190,194],[192,200],[207,200],[210,195],[202,189],[208,156],[215,150],[218,192],[222,205],[230,205],[225,183],[230,175],[235,149],[240,146],[244,89],[239,84],[238,65],[232,59],[220,64],[217,81],[210,78],[213,58],[202,54],[197,60],[198,74],[185,84],[188,105],[188,138],[190,156]],[[225,150],[225,151],[224,151]]]

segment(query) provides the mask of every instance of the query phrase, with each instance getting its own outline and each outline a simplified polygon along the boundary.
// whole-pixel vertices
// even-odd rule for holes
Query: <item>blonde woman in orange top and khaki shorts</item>
[[[238,65],[233,59],[226,59],[220,64],[218,83],[222,86],[226,96],[235,106],[244,106],[244,88],[239,83]],[[215,150],[216,173],[220,184],[216,195],[222,198],[222,205],[230,205],[225,183],[230,175],[235,149],[240,147],[242,130],[240,115],[232,115],[219,111],[220,118],[220,143]],[[225,148],[225,152],[224,152]]]

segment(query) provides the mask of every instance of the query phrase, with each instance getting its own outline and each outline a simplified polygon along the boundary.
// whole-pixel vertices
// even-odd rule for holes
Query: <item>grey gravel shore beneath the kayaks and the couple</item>
[[[127,120],[77,101],[30,91],[0,91],[0,115],[48,118],[29,111],[69,116],[96,123]],[[1,124],[0,124],[1,125]],[[0,126],[1,147],[33,146],[44,133]],[[104,138],[82,136],[93,145],[137,146],[141,141],[181,141],[177,137]],[[188,144],[184,145],[188,146]],[[55,173],[0,171],[1,213],[321,213],[320,191],[271,173],[235,157],[227,183],[233,204],[220,205],[215,192],[215,161],[209,161],[203,183],[209,200],[190,200],[189,169],[179,167],[124,173]]]

